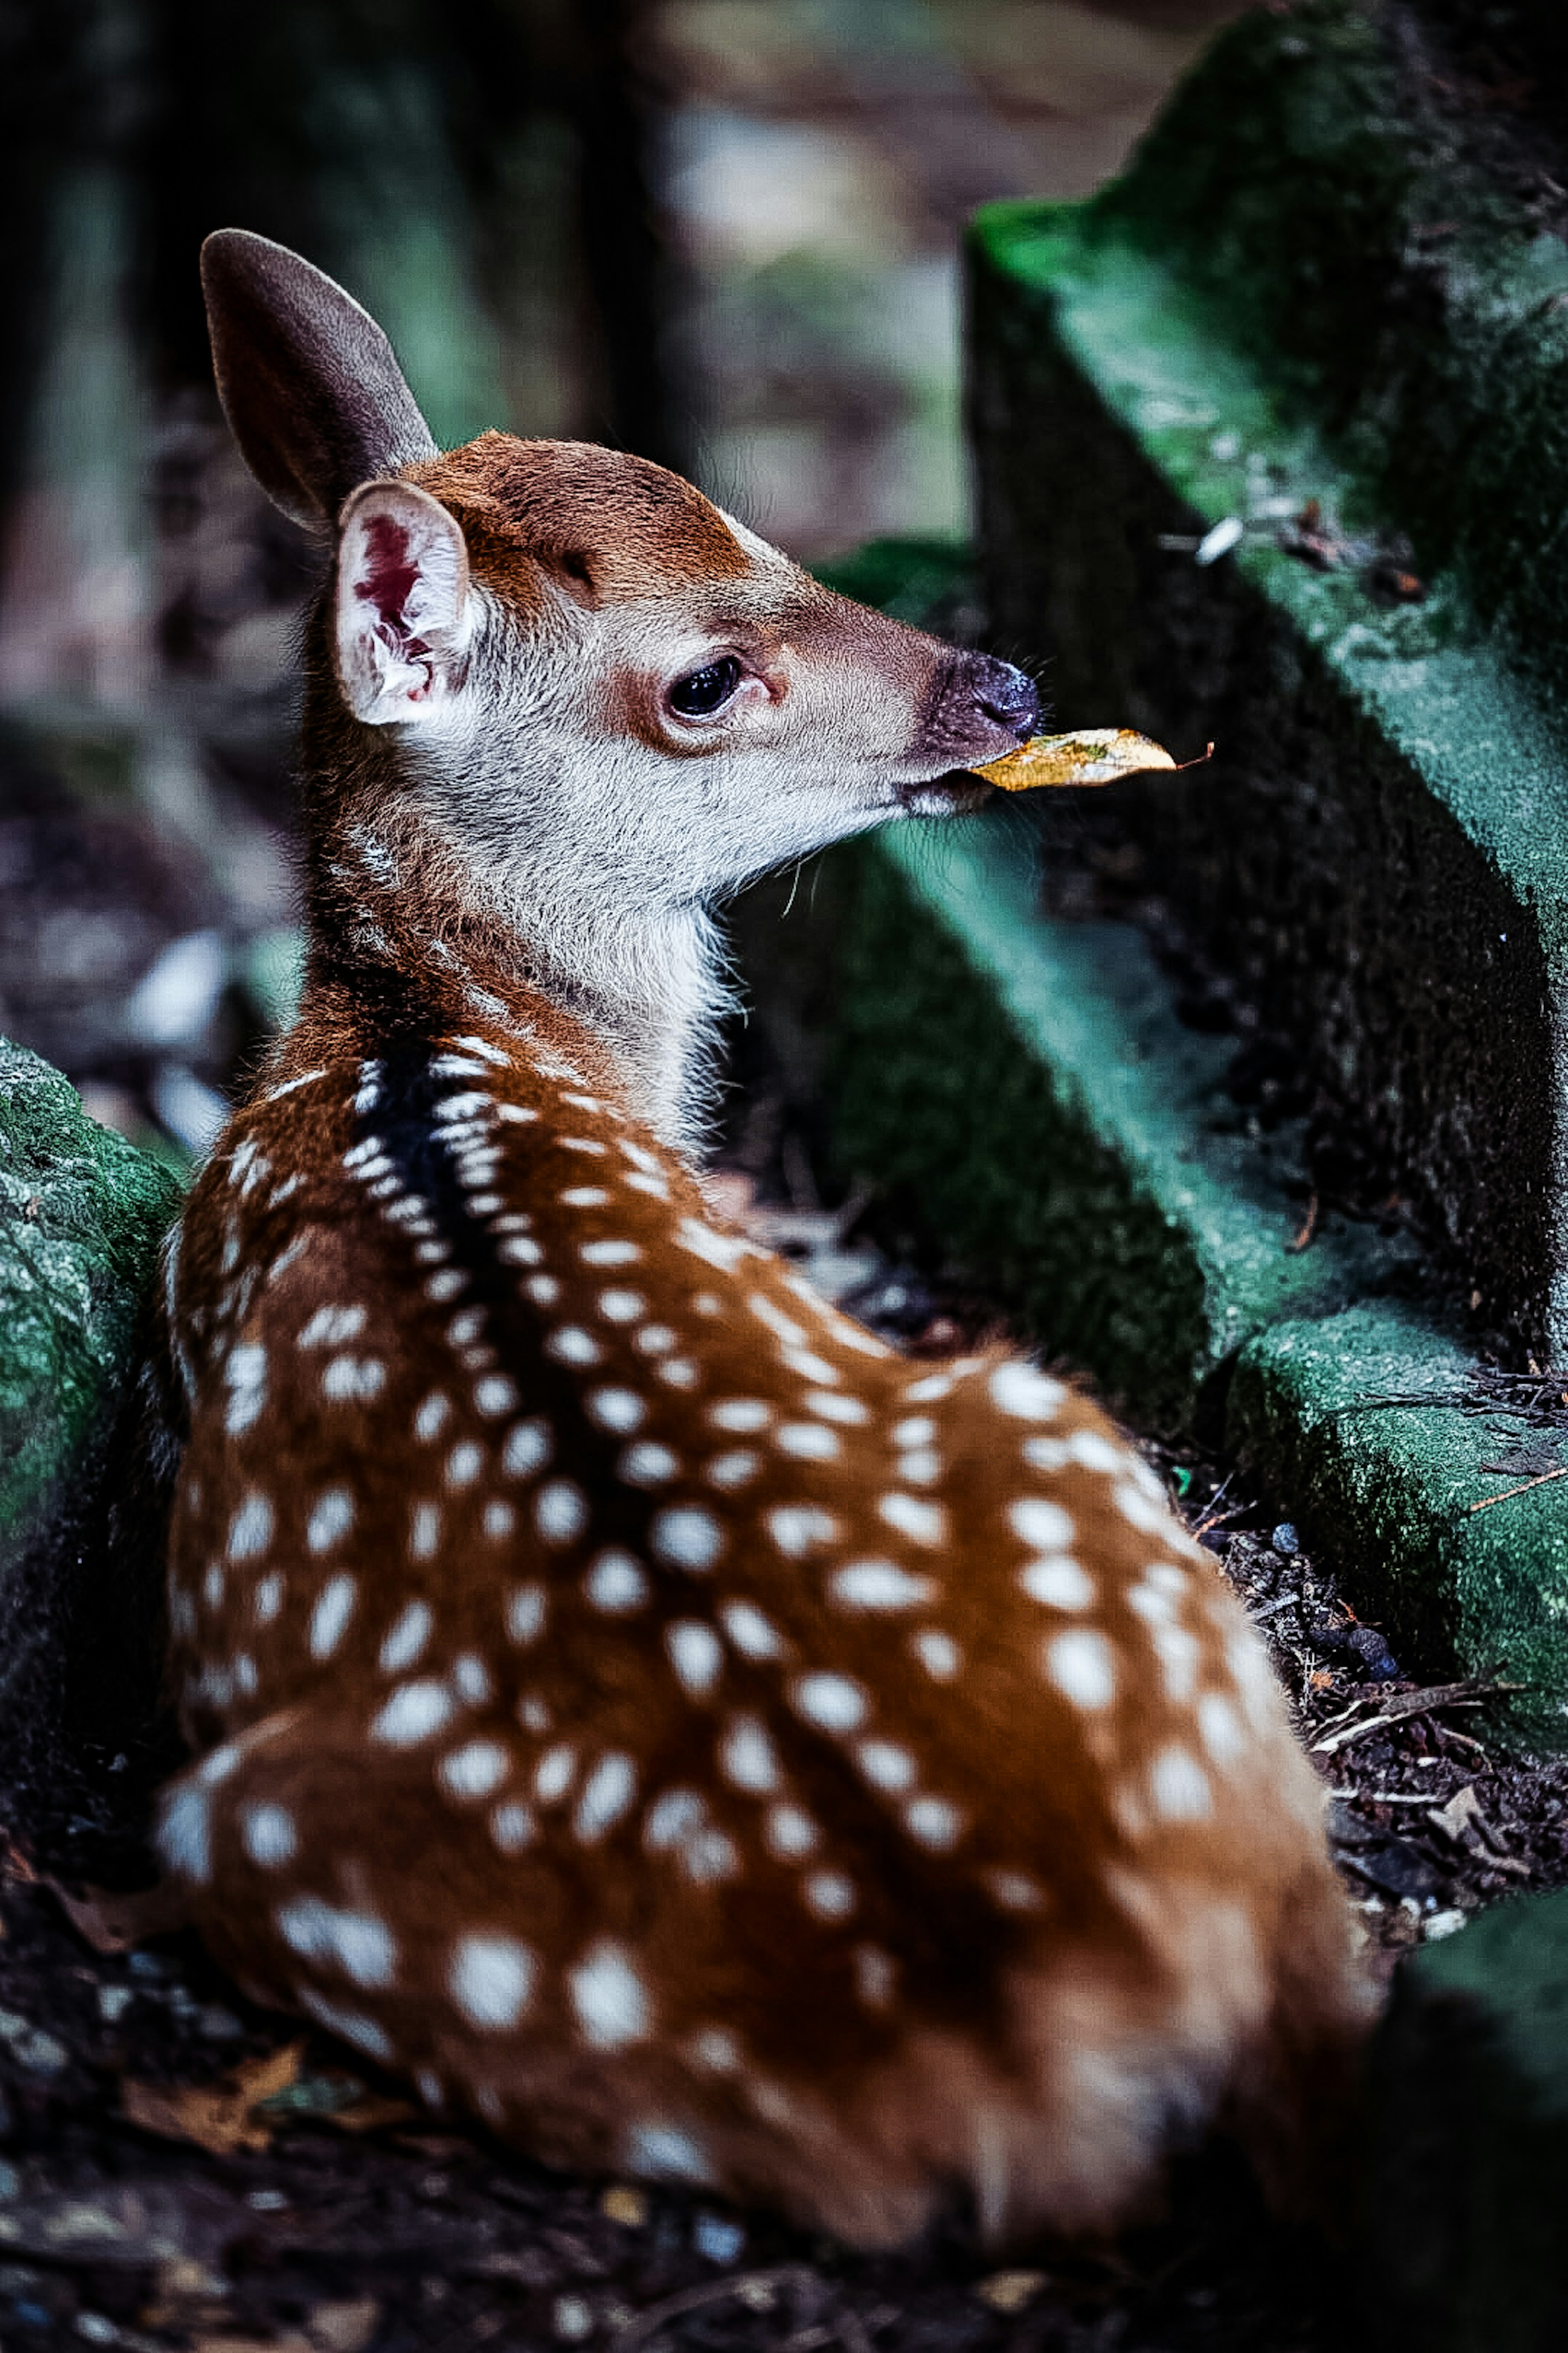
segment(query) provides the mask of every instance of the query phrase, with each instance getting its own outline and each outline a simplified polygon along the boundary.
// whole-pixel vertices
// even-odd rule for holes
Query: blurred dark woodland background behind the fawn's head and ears
[[[952,539],[964,216],[1088,193],[1225,14],[0,0],[0,1031],[186,1162],[287,1012],[313,551],[228,445],[209,228],[341,278],[444,445],[630,447],[804,562]]]

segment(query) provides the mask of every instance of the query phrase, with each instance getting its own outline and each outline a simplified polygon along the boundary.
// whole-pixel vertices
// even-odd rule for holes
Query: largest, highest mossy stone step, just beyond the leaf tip
[[[1143,854],[1479,1327],[1559,1355],[1568,247],[1434,115],[1415,38],[1253,12],[1119,186],[980,216],[983,576],[1060,725],[1215,744],[1044,812],[1058,852]]]

